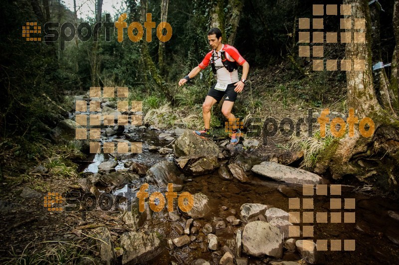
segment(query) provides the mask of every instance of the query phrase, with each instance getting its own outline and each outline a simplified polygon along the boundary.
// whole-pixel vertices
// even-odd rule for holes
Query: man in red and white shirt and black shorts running
[[[236,127],[235,116],[231,113],[231,109],[233,108],[237,93],[241,93],[244,88],[249,71],[249,64],[238,53],[237,49],[233,46],[221,43],[220,29],[210,29],[208,31],[208,41],[212,50],[205,55],[205,58],[197,67],[179,81],[179,86],[183,86],[190,81],[190,79],[197,76],[198,73],[205,69],[210,63],[213,74],[217,77],[217,82],[210,88],[202,104],[204,129],[193,131],[193,133],[200,137],[210,136],[210,109],[224,97],[221,112],[229,122],[232,121],[230,143],[237,144],[241,132]],[[242,66],[241,80],[238,79],[238,65]]]

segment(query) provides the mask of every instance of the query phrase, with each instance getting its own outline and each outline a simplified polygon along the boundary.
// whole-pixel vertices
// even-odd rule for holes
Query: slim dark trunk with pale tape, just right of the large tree
[[[379,4],[370,5],[371,13],[371,40],[372,40],[372,62],[373,65],[382,62],[381,56],[381,38],[380,38],[380,12],[381,7]],[[381,105],[392,114],[395,113],[391,105],[391,99],[389,94],[389,82],[388,77],[385,72],[385,68],[377,69],[374,72],[374,88],[377,93],[377,98],[381,102]]]

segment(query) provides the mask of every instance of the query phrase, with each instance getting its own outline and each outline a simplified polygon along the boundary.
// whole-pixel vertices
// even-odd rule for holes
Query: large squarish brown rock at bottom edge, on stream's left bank
[[[120,246],[124,252],[122,264],[143,264],[154,259],[165,249],[158,232],[126,232],[121,235]]]

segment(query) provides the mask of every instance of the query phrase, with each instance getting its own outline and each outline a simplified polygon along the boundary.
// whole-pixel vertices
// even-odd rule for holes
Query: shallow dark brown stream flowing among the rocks
[[[123,170],[126,162],[142,163],[149,168],[156,163],[164,160],[174,160],[173,153],[160,155],[158,152],[150,152],[150,146],[172,148],[171,141],[160,140],[159,130],[144,129],[134,130],[135,134],[143,141],[143,153],[136,154],[130,158],[118,161],[116,171]],[[133,129],[125,129],[125,132],[132,133]],[[167,131],[168,133],[168,131]],[[170,132],[169,132],[170,133]],[[173,135],[173,134],[171,134]],[[175,136],[177,137],[177,136]],[[122,138],[124,138],[122,136]],[[109,141],[110,139],[108,139]],[[216,144],[220,145],[223,140],[219,140]],[[254,158],[262,161],[261,154],[256,152],[248,152],[241,154],[247,158]],[[114,160],[112,156],[107,154],[96,154],[91,157],[92,162],[80,168],[83,172],[97,173],[98,165],[104,161]],[[230,158],[232,161],[233,157]],[[225,161],[228,163],[227,161]],[[263,177],[254,176],[250,171],[246,172],[251,180],[250,183],[241,183],[235,180],[225,180],[219,177],[217,171],[204,176],[185,176],[186,181],[182,191],[188,191],[191,194],[202,192],[211,201],[211,211],[203,218],[196,219],[201,224],[201,229],[205,223],[212,223],[217,220],[225,220],[229,215],[239,218],[240,207],[243,203],[261,203],[272,205],[289,212],[289,197],[304,198],[309,196],[302,195],[302,186],[277,182],[265,179]],[[122,187],[111,190],[116,195],[120,192],[132,191],[133,197],[139,187],[149,179],[141,177]],[[327,183],[327,182],[326,182]],[[367,192],[355,191],[355,186],[342,185],[342,195],[313,195],[314,199],[314,237],[307,239],[324,239],[324,240],[347,240],[354,239],[356,241],[355,251],[344,251],[342,244],[341,251],[323,251],[321,264],[398,264],[399,261],[399,203],[383,197],[376,197],[367,194]],[[101,190],[108,191],[109,190]],[[165,189],[159,190],[155,185],[150,183],[147,190],[149,194],[154,191],[165,192]],[[178,192],[180,193],[180,192]],[[316,212],[331,212],[340,210],[330,210],[331,198],[355,198],[356,209],[348,210],[356,212],[355,223],[316,223]],[[148,199],[146,199],[148,201]],[[342,200],[344,201],[344,200]],[[160,212],[155,212],[152,219],[147,220],[148,230],[157,231],[165,238],[177,238],[180,235],[173,229],[173,224],[180,224],[185,227],[185,215],[179,211],[177,200],[174,200],[174,212],[180,214],[180,220],[172,222],[168,221],[168,212],[164,208]],[[341,209],[345,212],[345,209]],[[291,210],[295,211],[295,210]],[[298,211],[298,210],[296,210]],[[300,210],[304,211],[304,210]],[[311,210],[308,210],[311,211]],[[344,215],[344,214],[343,214]],[[344,218],[342,217],[342,221]],[[231,246],[235,241],[235,233],[243,225],[232,226],[227,224],[223,229],[217,229],[215,235],[218,237],[220,246]],[[206,236],[200,233],[195,235],[195,239],[188,246],[183,248],[174,248],[172,250],[165,249],[161,255],[155,257],[148,264],[170,264],[175,262],[178,264],[192,264],[197,259],[204,259],[210,264],[218,264],[223,253],[209,252],[201,248],[202,242],[206,241]],[[297,238],[300,239],[300,238]],[[246,257],[242,253],[241,257]],[[249,264],[267,264],[269,261],[276,259],[259,259],[248,256]],[[284,249],[283,258],[280,261],[298,261],[301,256],[298,252],[288,252]],[[278,261],[278,260],[276,260]]]

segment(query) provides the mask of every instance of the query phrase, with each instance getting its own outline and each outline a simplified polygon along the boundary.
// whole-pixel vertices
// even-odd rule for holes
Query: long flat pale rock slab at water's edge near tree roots
[[[264,177],[288,183],[319,184],[322,181],[322,178],[316,174],[274,162],[262,162],[259,165],[253,166],[251,171]]]

